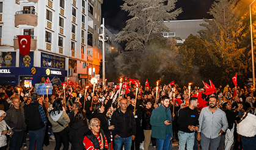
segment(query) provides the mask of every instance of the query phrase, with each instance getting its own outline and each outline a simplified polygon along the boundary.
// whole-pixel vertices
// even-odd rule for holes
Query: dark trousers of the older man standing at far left
[[[12,137],[10,138],[10,150],[20,150],[22,145],[24,130],[13,132]]]

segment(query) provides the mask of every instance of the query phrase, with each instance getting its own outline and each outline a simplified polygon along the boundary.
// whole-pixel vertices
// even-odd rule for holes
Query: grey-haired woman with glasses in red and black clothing
[[[84,137],[84,141],[82,141],[86,150],[107,150],[108,141],[103,130],[100,129],[100,120],[98,118],[90,120],[89,129],[89,132]]]

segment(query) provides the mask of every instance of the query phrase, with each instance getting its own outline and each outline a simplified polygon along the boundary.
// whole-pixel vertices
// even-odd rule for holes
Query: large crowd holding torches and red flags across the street
[[[27,134],[29,150],[48,146],[49,138],[55,150],[172,149],[173,141],[188,150],[256,149],[254,87],[227,84],[192,97],[203,90],[53,85],[51,95],[37,95],[34,87],[0,85],[0,150],[27,148]],[[199,107],[200,99],[207,104]]]

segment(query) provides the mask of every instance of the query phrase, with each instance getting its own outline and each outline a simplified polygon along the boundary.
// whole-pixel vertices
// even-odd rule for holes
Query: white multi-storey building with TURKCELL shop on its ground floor
[[[101,58],[100,48],[88,46],[87,37],[89,32],[93,38],[98,36],[95,32],[100,26],[94,24],[100,24],[102,3],[103,0],[0,0],[0,69],[9,72],[0,71],[0,85],[23,85],[26,80],[37,84],[46,77],[54,78],[54,83],[69,77],[86,84],[90,75],[97,74],[97,61]],[[20,55],[16,35],[31,35],[29,55]],[[88,59],[90,55],[94,57]],[[46,69],[51,70],[50,74]]]

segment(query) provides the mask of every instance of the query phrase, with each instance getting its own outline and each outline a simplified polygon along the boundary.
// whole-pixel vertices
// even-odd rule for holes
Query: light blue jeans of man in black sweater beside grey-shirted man
[[[195,140],[194,132],[187,133],[187,132],[183,132],[183,131],[179,130],[178,137],[179,137],[178,149],[185,150],[185,146],[187,146],[186,149],[188,149],[188,150],[193,149],[194,140]]]

